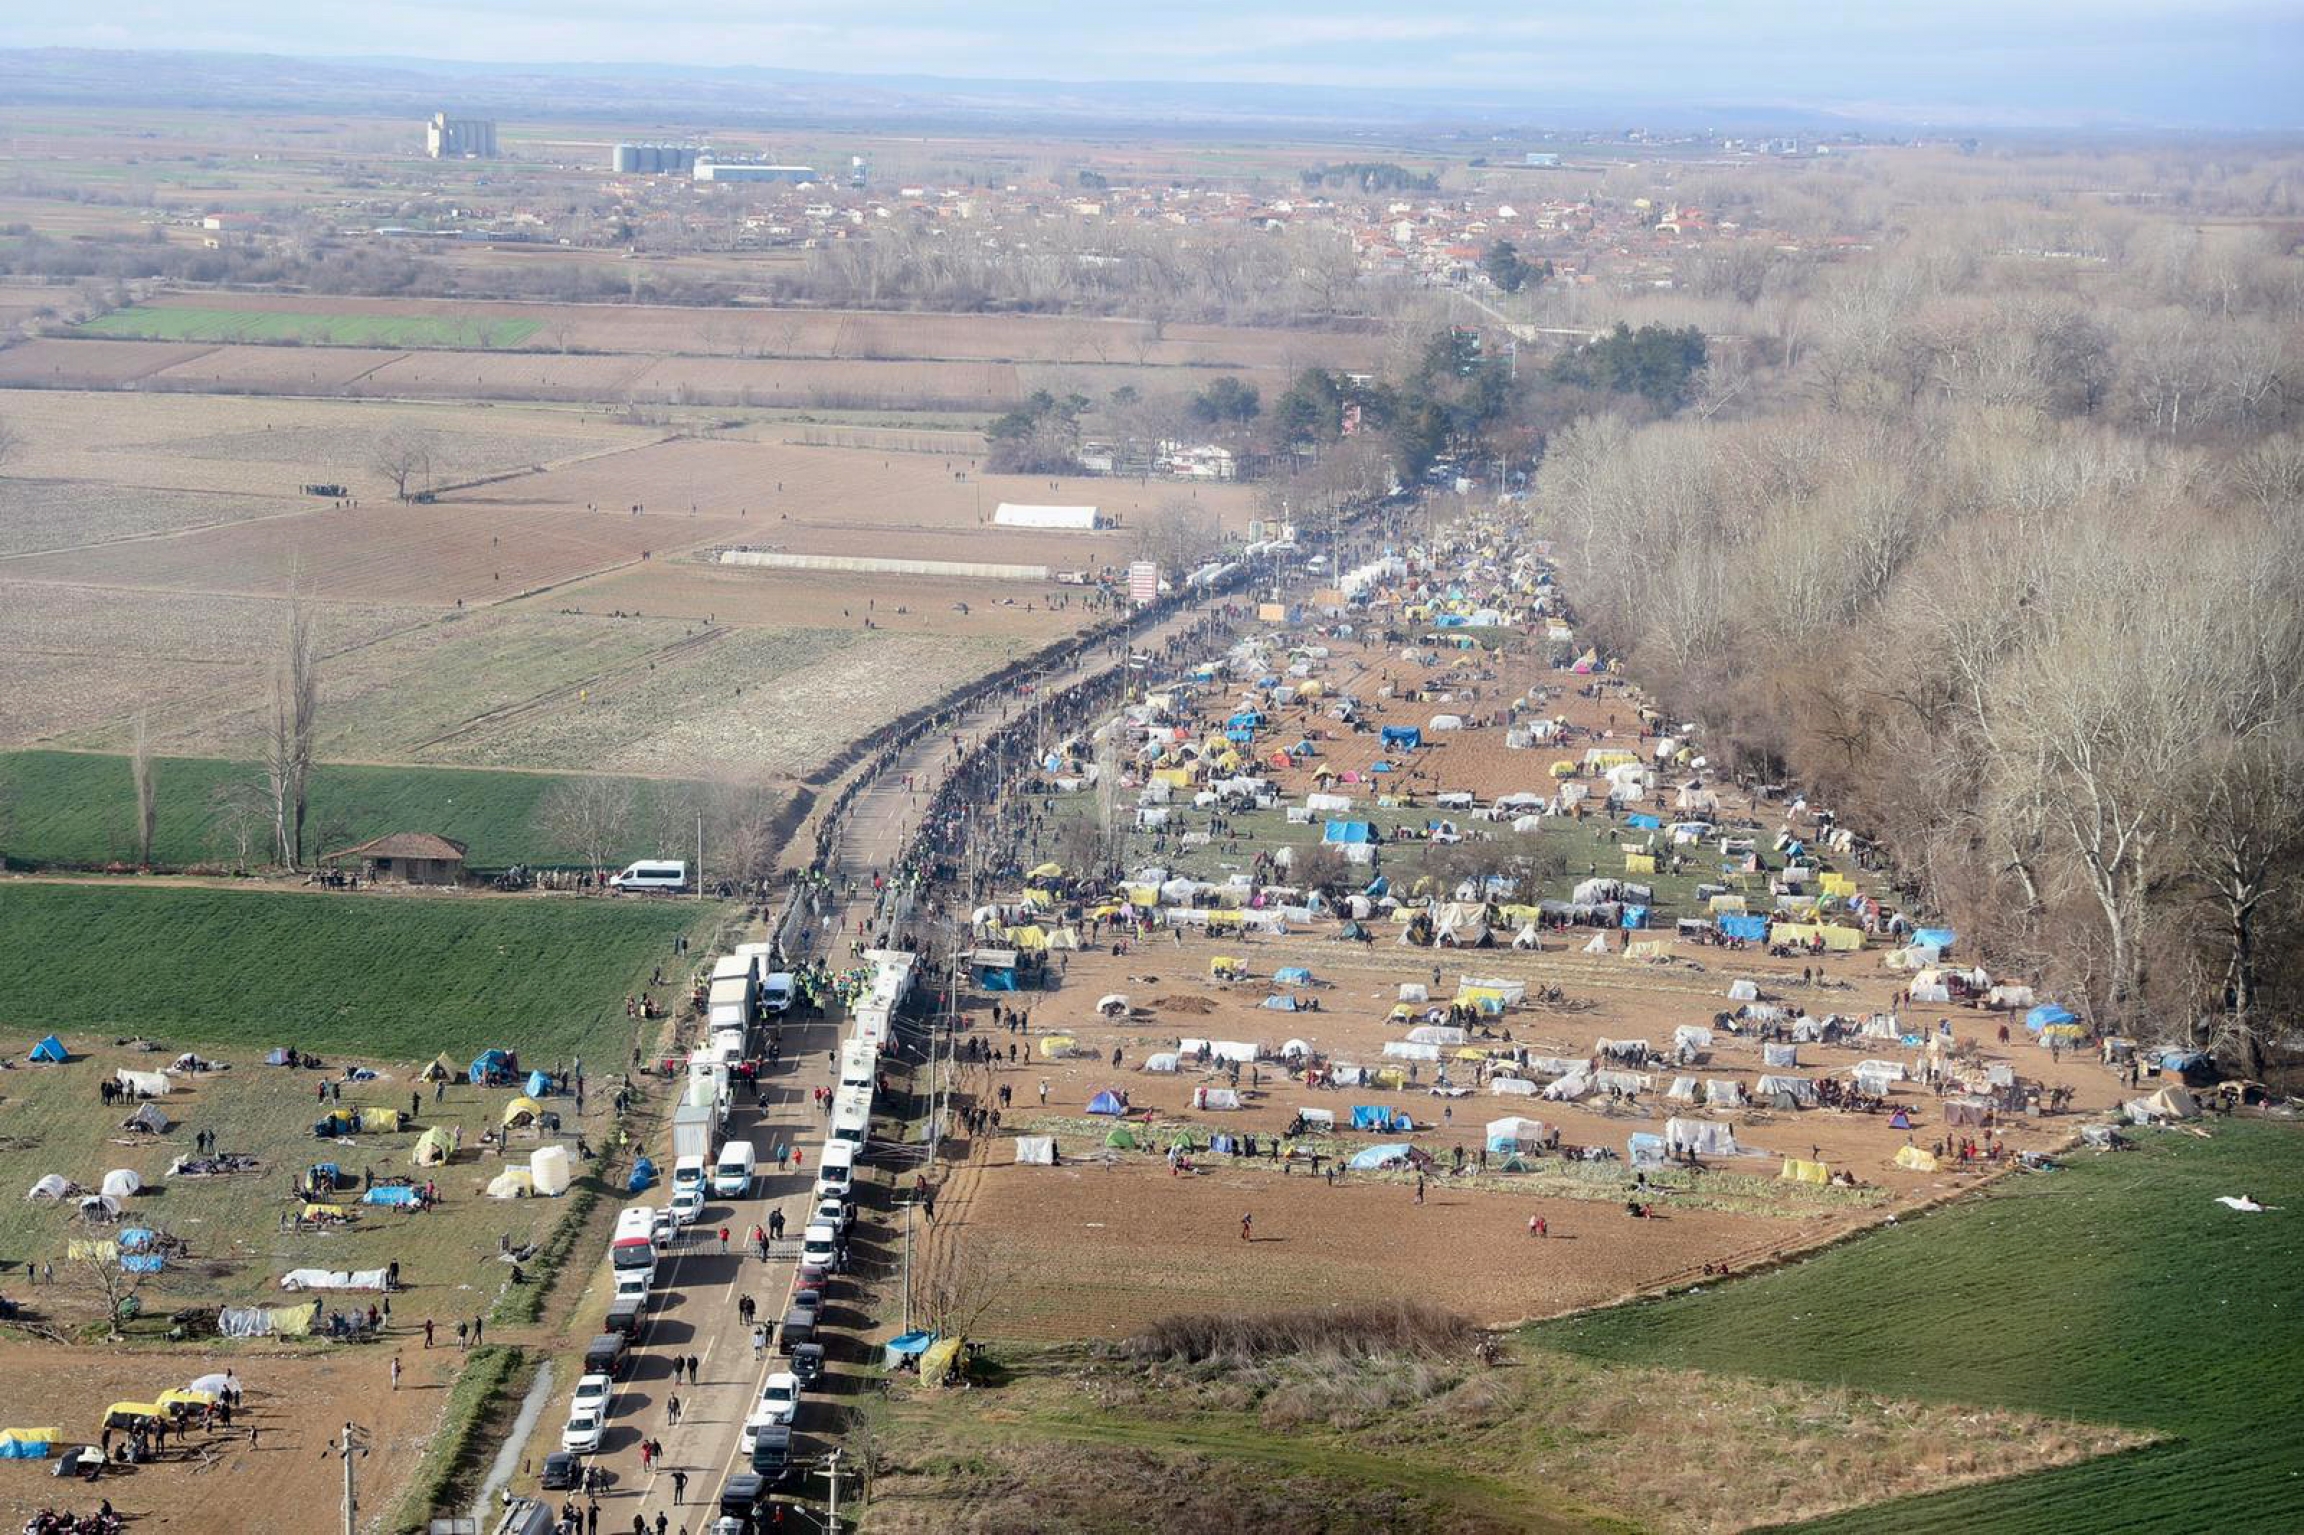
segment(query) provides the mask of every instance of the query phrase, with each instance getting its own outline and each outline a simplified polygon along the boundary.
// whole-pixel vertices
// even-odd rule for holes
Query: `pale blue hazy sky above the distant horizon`
[[[2304,124],[2304,0],[0,0],[0,44]]]

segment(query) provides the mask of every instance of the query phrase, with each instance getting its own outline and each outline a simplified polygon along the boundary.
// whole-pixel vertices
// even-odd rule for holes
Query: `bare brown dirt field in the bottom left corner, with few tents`
[[[191,1452],[108,1473],[97,1487],[58,1482],[55,1461],[0,1461],[0,1521],[21,1528],[41,1507],[94,1512],[111,1498],[131,1528],[184,1535],[263,1530],[295,1535],[334,1528],[343,1503],[343,1466],[325,1454],[336,1429],[353,1420],[366,1431],[369,1454],[359,1480],[376,1494],[362,1505],[371,1517],[392,1512],[447,1404],[447,1362],[454,1348],[424,1351],[424,1339],[401,1346],[401,1390],[392,1390],[387,1348],[297,1353],[286,1348],[62,1348],[0,1341],[0,1374],[9,1383],[9,1422],[58,1427],[94,1443],[104,1408],[143,1401],[207,1371],[233,1369],[247,1392],[247,1415],[233,1417],[230,1438],[194,1434]],[[249,1445],[244,1424],[256,1427]]]

